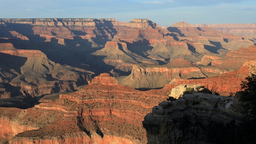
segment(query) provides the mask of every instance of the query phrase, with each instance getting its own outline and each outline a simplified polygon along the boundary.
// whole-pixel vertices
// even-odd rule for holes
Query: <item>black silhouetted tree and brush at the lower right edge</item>
[[[244,119],[239,123],[210,123],[208,136],[213,144],[256,144],[256,75],[241,83],[239,100]]]

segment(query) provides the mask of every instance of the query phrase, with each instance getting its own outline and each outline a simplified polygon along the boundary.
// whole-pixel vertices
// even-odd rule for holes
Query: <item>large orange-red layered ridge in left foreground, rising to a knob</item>
[[[33,108],[0,108],[1,130],[12,127],[0,138],[13,144],[145,144],[143,117],[165,98],[118,85],[105,73],[83,89],[55,100],[44,99]],[[25,125],[26,129],[20,128]]]

